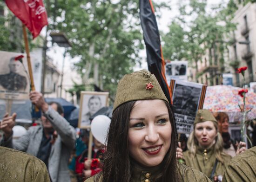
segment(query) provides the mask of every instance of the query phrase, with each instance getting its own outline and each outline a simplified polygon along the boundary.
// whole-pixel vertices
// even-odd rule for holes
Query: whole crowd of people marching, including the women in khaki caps
[[[102,143],[94,137],[92,151],[88,130],[77,135],[60,104],[46,103],[37,91],[29,97],[42,111],[42,124],[13,140],[16,114],[3,117],[0,161],[5,168],[0,167],[0,181],[256,180],[256,147],[247,150],[245,143],[232,141],[226,113],[198,110],[193,132],[178,143],[173,109],[147,70],[119,81],[107,140]]]

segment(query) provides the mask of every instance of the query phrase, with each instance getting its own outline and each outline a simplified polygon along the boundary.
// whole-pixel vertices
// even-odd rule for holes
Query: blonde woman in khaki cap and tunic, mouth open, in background
[[[222,178],[231,156],[223,152],[222,136],[218,132],[218,123],[209,110],[198,110],[194,121],[194,131],[188,140],[188,149],[182,153],[177,149],[177,157],[187,166],[203,172],[213,181]],[[245,146],[245,143],[240,143]],[[242,147],[237,150],[241,153]],[[179,160],[180,161],[180,160]]]

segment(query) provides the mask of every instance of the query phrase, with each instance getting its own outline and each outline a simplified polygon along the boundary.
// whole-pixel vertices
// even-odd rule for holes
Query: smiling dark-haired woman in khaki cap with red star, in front
[[[176,162],[173,112],[147,70],[118,84],[102,172],[86,182],[210,182]]]

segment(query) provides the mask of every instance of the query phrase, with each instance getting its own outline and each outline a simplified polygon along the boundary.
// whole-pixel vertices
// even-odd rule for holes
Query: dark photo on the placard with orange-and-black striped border
[[[174,112],[187,116],[195,116],[200,91],[200,88],[176,84],[173,98]]]

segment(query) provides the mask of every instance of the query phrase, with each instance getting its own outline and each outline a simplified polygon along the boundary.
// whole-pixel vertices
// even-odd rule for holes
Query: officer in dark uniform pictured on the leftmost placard
[[[10,59],[9,73],[0,75],[0,85],[8,91],[25,91],[27,88],[27,78],[19,73],[23,69],[23,65],[17,58]]]

